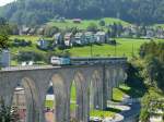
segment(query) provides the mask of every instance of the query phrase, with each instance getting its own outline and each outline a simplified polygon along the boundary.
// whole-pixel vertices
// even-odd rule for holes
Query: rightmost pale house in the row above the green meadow
[[[99,42],[99,44],[105,42],[105,40],[106,40],[106,33],[105,32],[97,32],[95,34],[95,38],[96,38],[96,42]]]

